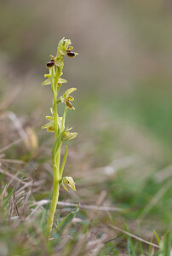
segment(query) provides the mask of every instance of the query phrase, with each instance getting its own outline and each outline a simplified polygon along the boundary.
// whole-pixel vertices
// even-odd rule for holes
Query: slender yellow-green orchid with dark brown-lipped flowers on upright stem
[[[61,78],[62,70],[64,66],[64,56],[68,55],[69,57],[75,57],[77,53],[72,51],[71,40],[62,38],[57,47],[56,56],[50,55],[50,61],[46,64],[46,67],[49,68],[49,73],[45,74],[44,77],[46,80],[42,85],[51,85],[51,90],[53,93],[53,104],[50,108],[51,115],[46,116],[46,119],[49,122],[46,125],[43,125],[42,129],[47,129],[47,131],[54,132],[54,145],[52,148],[52,166],[54,172],[54,181],[53,181],[53,197],[51,201],[51,206],[49,209],[48,217],[48,227],[49,232],[51,232],[54,224],[54,213],[56,206],[59,200],[59,190],[60,184],[64,189],[76,190],[75,182],[72,177],[63,177],[63,171],[66,164],[67,158],[67,147],[63,160],[61,160],[60,149],[64,141],[72,140],[77,137],[77,132],[71,132],[72,128],[66,128],[66,113],[67,109],[75,109],[72,106],[72,101],[74,100],[71,94],[77,90],[76,88],[70,88],[66,92],[59,96],[60,87],[62,84],[65,84],[66,79]],[[65,103],[66,107],[64,109],[63,116],[60,117],[58,114],[58,104]]]

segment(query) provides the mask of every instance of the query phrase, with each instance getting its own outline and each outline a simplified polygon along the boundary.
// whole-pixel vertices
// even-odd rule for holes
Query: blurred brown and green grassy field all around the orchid
[[[169,1],[14,1],[0,15],[0,255],[169,256]],[[64,71],[77,85],[65,170],[77,192],[60,189],[54,230],[77,214],[49,240],[52,95],[41,84],[62,36],[79,52]]]

